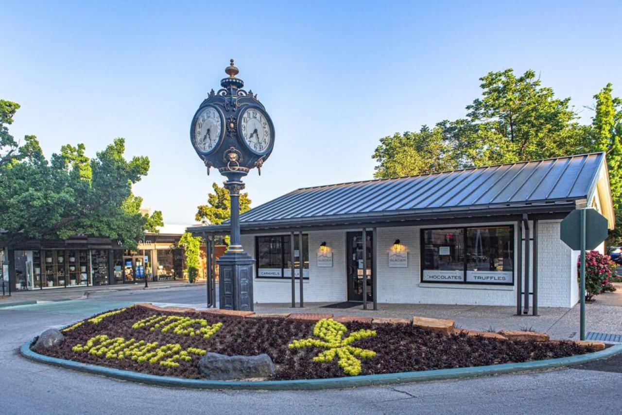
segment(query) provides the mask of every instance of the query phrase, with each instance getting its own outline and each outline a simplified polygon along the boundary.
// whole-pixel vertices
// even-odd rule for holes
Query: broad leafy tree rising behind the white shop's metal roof
[[[590,127],[577,123],[570,98],[555,98],[534,71],[519,77],[512,69],[490,72],[480,81],[481,98],[466,106],[465,118],[382,138],[373,155],[376,177],[590,151]]]

